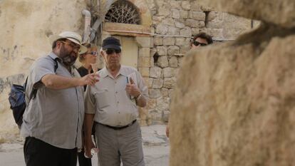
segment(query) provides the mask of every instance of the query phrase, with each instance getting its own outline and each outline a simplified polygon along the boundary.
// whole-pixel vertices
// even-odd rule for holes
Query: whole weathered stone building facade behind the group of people
[[[118,1],[0,1],[0,35],[7,38],[0,41],[0,122],[5,126],[1,135],[11,128],[17,133],[7,100],[11,84],[23,83],[31,63],[50,51],[51,35],[64,30],[83,32],[83,9],[91,12],[92,26],[99,19],[102,22],[95,29],[94,42],[99,46],[106,36],[120,38],[125,43],[123,55],[128,57],[123,63],[138,68],[145,79],[150,100],[147,108],[140,109],[142,125],[167,122],[178,68],[192,35],[204,31],[215,41],[227,41],[254,26],[254,21],[214,11],[202,1],[127,2],[136,9],[137,24],[104,20]]]

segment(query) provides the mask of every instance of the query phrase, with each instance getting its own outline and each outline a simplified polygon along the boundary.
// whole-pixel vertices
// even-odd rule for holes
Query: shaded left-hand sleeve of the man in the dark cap
[[[91,93],[91,86],[87,85],[85,93],[85,113],[95,114],[95,97]]]

